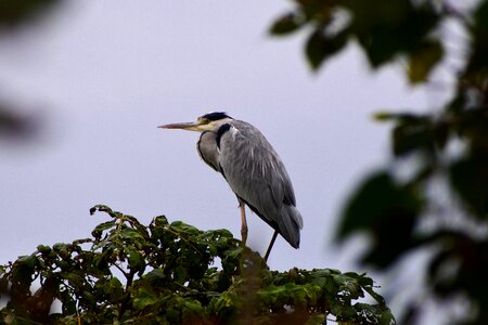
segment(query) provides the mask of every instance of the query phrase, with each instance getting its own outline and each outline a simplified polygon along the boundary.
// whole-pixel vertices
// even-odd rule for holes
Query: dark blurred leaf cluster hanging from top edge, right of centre
[[[318,69],[355,39],[372,67],[399,55],[409,62],[412,82],[424,81],[442,57],[441,42],[431,36],[441,16],[431,1],[411,0],[295,0],[296,10],[271,26],[271,34],[288,35],[311,27],[305,50]]]

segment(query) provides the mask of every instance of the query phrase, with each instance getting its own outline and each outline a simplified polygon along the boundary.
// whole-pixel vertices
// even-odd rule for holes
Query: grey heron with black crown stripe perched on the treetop
[[[280,156],[258,129],[221,112],[205,114],[195,122],[170,123],[159,128],[202,132],[196,144],[200,156],[223,176],[237,196],[244,245],[247,239],[244,206],[247,205],[274,229],[265,260],[278,234],[292,247],[298,248],[303,219],[296,209],[292,182]]]

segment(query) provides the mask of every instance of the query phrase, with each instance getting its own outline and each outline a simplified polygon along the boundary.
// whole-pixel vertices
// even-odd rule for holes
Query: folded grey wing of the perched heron
[[[281,158],[259,130],[239,120],[229,123],[217,141],[221,172],[232,191],[297,248],[303,219]]]

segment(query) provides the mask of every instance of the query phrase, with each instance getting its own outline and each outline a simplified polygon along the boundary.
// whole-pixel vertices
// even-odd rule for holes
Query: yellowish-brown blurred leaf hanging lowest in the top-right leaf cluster
[[[409,54],[408,75],[411,83],[427,81],[434,66],[442,58],[444,49],[438,40],[425,40]]]

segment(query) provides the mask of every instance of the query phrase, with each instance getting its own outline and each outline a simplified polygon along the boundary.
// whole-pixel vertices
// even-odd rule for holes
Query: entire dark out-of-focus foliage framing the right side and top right
[[[412,84],[428,83],[434,68],[450,60],[439,29],[453,23],[467,35],[467,48],[459,49],[466,56],[453,73],[450,102],[425,114],[377,115],[395,123],[395,160],[352,194],[338,238],[368,231],[374,244],[362,262],[381,269],[393,269],[408,252],[434,247],[425,270],[431,297],[446,302],[466,295],[474,311],[464,322],[488,324],[488,1],[465,12],[448,1],[294,2],[295,9],[270,31],[311,30],[305,51],[316,70],[356,40],[373,68],[400,60],[407,62]],[[396,171],[404,161],[412,164],[409,176],[400,178]],[[429,227],[423,226],[426,222]],[[406,324],[421,314],[414,299]]]

